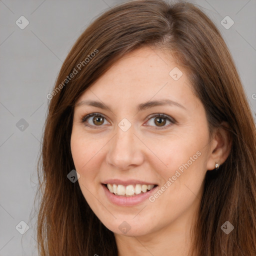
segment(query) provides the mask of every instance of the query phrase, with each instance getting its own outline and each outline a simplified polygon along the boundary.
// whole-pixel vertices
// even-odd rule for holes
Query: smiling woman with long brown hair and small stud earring
[[[40,255],[255,255],[255,125],[197,7],[106,11],[47,97]]]

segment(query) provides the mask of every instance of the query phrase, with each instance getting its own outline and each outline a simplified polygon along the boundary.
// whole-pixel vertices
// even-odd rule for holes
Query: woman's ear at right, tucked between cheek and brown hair
[[[230,153],[232,139],[228,132],[228,127],[227,122],[222,122],[220,127],[217,127],[213,133],[207,160],[207,170],[215,169],[216,162],[219,165],[223,164]]]

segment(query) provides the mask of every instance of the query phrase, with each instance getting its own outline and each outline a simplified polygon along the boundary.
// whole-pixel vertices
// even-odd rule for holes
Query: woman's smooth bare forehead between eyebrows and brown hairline
[[[192,103],[194,95],[185,70],[160,49],[142,47],[116,61],[87,89],[80,100],[122,104],[162,98]]]

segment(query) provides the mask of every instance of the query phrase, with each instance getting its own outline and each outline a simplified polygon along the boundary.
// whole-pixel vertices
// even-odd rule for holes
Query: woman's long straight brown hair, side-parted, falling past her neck
[[[240,78],[212,21],[191,3],[162,0],[126,2],[104,12],[80,35],[60,69],[38,161],[39,255],[117,255],[113,232],[92,212],[78,182],[67,178],[74,169],[73,107],[111,64],[141,46],[167,50],[184,67],[209,130],[222,121],[229,126],[230,154],[218,171],[205,175],[193,250],[199,256],[255,256],[256,131]],[[234,226],[229,234],[220,228],[225,221]]]

